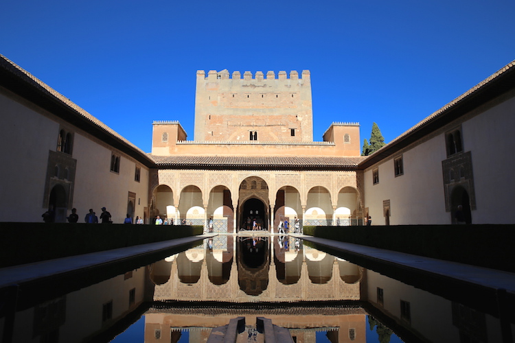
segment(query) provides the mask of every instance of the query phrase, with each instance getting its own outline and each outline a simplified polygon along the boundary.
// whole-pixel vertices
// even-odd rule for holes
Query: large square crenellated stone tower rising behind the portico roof
[[[312,142],[308,70],[196,73],[195,141]]]

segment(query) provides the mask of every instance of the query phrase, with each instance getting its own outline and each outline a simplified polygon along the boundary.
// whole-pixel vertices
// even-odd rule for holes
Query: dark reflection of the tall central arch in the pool
[[[268,238],[240,237],[238,239],[238,283],[246,294],[257,296],[268,287],[270,254]]]

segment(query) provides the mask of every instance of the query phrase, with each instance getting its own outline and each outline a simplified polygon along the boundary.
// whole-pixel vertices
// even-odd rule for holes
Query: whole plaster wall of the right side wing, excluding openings
[[[459,126],[460,123],[454,123]],[[449,128],[453,127],[450,125]],[[473,224],[512,224],[515,158],[510,139],[515,128],[515,98],[461,123],[464,152],[472,154],[477,209]],[[444,133],[412,145],[402,153],[404,174],[395,177],[393,158],[365,170],[365,207],[372,225],[384,225],[383,200],[390,200],[390,224],[450,224],[445,211],[442,161],[446,156]],[[379,168],[379,183],[372,170]]]

